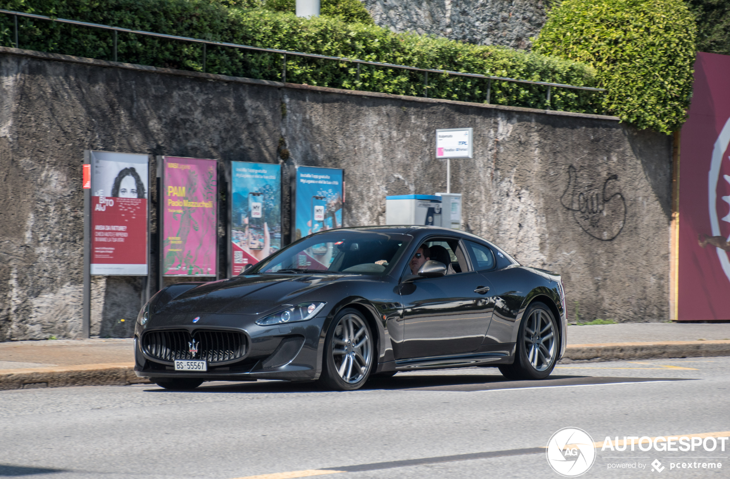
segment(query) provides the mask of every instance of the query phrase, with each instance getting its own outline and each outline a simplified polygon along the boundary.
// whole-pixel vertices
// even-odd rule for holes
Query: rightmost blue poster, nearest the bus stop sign
[[[342,227],[342,169],[297,166],[292,240]]]

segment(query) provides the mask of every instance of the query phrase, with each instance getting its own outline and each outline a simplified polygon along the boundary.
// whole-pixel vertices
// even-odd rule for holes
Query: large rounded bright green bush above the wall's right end
[[[681,0],[564,0],[534,51],[593,66],[608,89],[606,112],[669,133],[689,107],[695,38],[694,15]]]

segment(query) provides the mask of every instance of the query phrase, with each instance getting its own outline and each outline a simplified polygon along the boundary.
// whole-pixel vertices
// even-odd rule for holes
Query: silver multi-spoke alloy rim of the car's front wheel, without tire
[[[347,314],[339,319],[332,337],[332,359],[345,383],[363,380],[372,359],[372,342],[362,318]]]

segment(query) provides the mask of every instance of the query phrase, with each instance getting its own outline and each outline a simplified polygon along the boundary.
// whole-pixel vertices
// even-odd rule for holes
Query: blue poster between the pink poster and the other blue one
[[[281,248],[281,166],[231,161],[231,275]]]

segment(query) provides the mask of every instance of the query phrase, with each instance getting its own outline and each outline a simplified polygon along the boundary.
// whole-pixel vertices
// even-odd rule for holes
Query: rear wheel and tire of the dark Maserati
[[[534,302],[527,307],[517,337],[515,362],[502,364],[499,372],[510,380],[547,378],[560,351],[558,323],[547,304]]]

